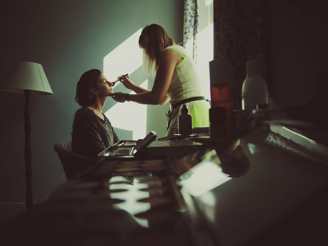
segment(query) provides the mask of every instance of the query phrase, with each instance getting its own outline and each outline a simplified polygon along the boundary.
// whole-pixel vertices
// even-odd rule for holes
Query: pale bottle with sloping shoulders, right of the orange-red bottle
[[[252,110],[269,106],[269,91],[267,83],[261,76],[259,60],[249,60],[246,63],[246,78],[241,88],[241,108]]]

